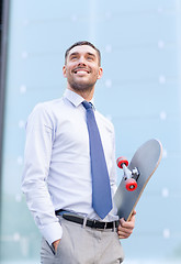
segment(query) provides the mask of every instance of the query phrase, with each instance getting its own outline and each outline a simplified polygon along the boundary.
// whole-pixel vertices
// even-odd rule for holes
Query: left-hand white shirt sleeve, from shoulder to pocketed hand
[[[26,142],[22,190],[27,207],[45,238],[52,244],[63,235],[63,229],[47,188],[52,147],[54,142],[54,122],[46,107],[37,105],[26,123]]]

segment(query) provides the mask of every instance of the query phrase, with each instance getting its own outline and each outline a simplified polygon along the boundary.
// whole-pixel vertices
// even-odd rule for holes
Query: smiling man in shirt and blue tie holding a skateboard
[[[103,74],[99,50],[89,42],[75,43],[65,54],[63,74],[67,78],[64,97],[37,105],[26,124],[22,189],[43,235],[41,261],[43,264],[121,263],[123,250],[118,239],[131,235],[136,212],[129,222],[117,219],[113,202],[116,189],[114,129],[88,103]],[[90,128],[89,107],[95,119]],[[94,144],[90,131],[93,125],[101,139],[97,153],[92,153],[91,145]],[[104,168],[100,161],[104,162]],[[93,179],[98,166],[101,173]],[[102,177],[103,170],[108,177],[100,179],[95,190],[94,182]]]

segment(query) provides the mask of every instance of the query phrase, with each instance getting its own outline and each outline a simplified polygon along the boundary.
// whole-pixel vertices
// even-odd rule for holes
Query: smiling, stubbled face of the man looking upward
[[[68,53],[63,74],[75,91],[92,90],[102,77],[97,51],[89,45],[75,46]]]

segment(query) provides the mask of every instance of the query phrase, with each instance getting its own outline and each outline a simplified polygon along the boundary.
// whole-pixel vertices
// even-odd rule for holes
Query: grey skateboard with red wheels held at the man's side
[[[131,163],[118,157],[116,163],[124,176],[117,187],[114,201],[120,218],[128,221],[148,180],[157,169],[162,156],[162,145],[158,140],[149,140],[134,154]]]

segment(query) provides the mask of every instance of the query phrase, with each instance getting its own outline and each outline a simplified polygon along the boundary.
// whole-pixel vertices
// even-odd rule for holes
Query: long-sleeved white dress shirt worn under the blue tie
[[[22,189],[29,209],[49,244],[63,235],[55,210],[100,220],[92,208],[89,134],[84,99],[67,89],[63,98],[38,103],[26,123]],[[116,189],[113,124],[97,110],[112,196]],[[104,221],[117,220],[116,208]]]

